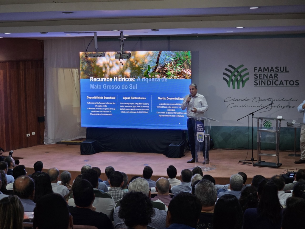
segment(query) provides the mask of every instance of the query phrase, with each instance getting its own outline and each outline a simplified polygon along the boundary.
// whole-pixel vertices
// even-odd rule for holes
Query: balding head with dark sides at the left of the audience
[[[13,184],[14,193],[21,199],[34,199],[35,185],[29,176],[19,176]]]

